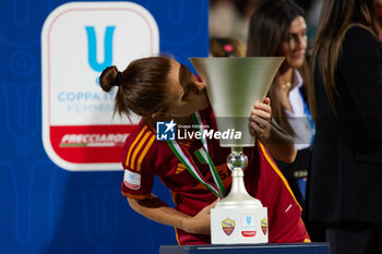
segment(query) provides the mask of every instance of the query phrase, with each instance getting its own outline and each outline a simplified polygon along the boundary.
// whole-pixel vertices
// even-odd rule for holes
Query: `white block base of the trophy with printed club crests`
[[[211,209],[212,244],[267,243],[266,207]]]

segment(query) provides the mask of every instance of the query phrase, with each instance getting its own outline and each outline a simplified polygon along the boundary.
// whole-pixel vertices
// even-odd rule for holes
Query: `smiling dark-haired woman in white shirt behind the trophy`
[[[314,134],[306,96],[306,86],[309,83],[307,45],[303,11],[294,1],[265,1],[253,13],[247,56],[285,57],[267,96],[271,98],[273,119],[294,138],[296,160],[293,164],[276,162],[301,205]]]

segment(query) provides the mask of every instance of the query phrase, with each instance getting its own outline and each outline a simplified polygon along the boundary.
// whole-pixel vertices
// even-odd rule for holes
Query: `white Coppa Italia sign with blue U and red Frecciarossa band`
[[[102,17],[102,19],[100,19]],[[114,116],[115,92],[98,77],[124,70],[159,49],[156,21],[132,2],[70,2],[53,10],[41,33],[43,142],[49,158],[69,170],[122,169],[126,137],[139,122]]]

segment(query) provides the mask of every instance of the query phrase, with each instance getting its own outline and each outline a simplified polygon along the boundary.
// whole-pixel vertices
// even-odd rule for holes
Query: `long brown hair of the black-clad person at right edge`
[[[363,26],[375,36],[381,36],[381,22],[375,16],[373,0],[324,0],[320,25],[313,47],[311,73],[320,70],[323,77],[327,101],[335,110],[335,72],[338,56],[346,32],[354,25]],[[318,66],[315,65],[318,64]],[[312,86],[314,84],[312,83]],[[314,87],[308,90],[312,116],[317,116]]]

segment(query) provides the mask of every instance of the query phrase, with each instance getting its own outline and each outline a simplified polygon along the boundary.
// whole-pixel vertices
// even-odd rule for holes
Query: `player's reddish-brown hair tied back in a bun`
[[[132,111],[150,118],[152,113],[166,110],[166,84],[170,68],[168,58],[143,58],[132,61],[123,72],[119,72],[115,65],[106,68],[100,74],[99,84],[105,92],[118,86],[115,113],[129,117]]]

